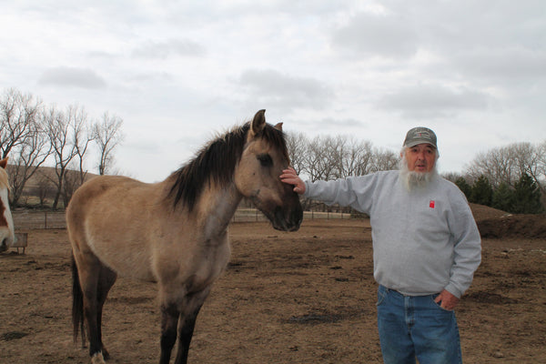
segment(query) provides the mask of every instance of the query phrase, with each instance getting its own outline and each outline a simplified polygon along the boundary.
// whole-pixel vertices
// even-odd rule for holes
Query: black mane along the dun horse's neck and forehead
[[[197,152],[197,157],[171,175],[176,180],[168,196],[174,197],[174,207],[182,202],[191,211],[206,184],[227,186],[233,180],[233,173],[243,154],[249,129],[248,122],[233,128],[223,136],[218,136],[202,147]],[[282,150],[288,160],[288,150],[282,131],[266,124],[258,136],[266,139],[272,147]]]

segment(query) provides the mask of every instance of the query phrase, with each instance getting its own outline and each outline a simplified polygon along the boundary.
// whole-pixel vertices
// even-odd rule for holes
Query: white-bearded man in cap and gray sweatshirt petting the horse
[[[369,215],[384,362],[461,363],[453,309],[480,265],[480,233],[460,189],[438,175],[432,130],[410,129],[400,157],[399,171],[310,183],[288,168],[280,178]]]

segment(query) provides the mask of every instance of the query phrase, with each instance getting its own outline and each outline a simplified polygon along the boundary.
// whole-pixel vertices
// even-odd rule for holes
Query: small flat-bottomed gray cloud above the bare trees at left
[[[88,68],[56,67],[45,70],[38,79],[41,85],[104,88],[106,81]]]

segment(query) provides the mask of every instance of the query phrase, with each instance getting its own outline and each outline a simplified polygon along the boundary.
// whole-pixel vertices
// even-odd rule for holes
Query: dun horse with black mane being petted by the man
[[[187,362],[197,313],[229,260],[227,225],[248,197],[280,230],[297,230],[303,212],[279,176],[288,167],[281,125],[265,110],[211,141],[163,182],[96,177],[66,210],[73,249],[74,336],[86,322],[92,363],[104,363],[101,316],[117,275],[157,282],[161,357]]]

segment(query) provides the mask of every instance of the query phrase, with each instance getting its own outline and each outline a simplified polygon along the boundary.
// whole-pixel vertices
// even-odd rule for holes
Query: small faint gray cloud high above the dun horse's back
[[[162,42],[147,41],[133,50],[132,55],[143,58],[166,59],[169,56],[204,56],[206,49],[188,39],[171,39]]]

